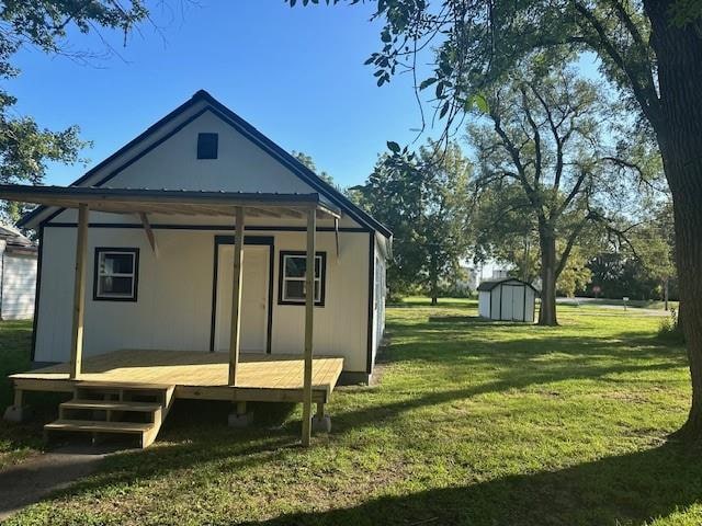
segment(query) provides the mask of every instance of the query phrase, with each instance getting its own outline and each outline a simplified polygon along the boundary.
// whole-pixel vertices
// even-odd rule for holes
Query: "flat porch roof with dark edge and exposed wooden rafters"
[[[60,208],[88,205],[112,214],[167,214],[231,217],[238,207],[253,217],[305,217],[315,209],[318,218],[339,218],[341,211],[320,201],[319,194],[202,192],[186,190],[105,188],[83,186],[0,185],[0,199]]]

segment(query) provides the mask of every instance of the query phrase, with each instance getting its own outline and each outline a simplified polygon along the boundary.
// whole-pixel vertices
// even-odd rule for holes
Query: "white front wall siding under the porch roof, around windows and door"
[[[231,232],[156,229],[155,233],[158,259],[141,229],[89,229],[89,289],[95,247],[138,248],[140,256],[138,301],[93,301],[88,295],[86,356],[118,348],[210,350],[215,236]],[[256,235],[247,231],[247,237]],[[305,232],[267,230],[261,236],[274,239],[271,352],[302,354],[305,309],[278,305],[276,298],[279,253],[304,249]],[[327,289],[325,306],[315,308],[315,353],[343,356],[347,371],[366,369],[369,236],[363,231],[340,232],[337,258],[335,232],[317,233],[317,250],[327,252]],[[75,227],[46,225],[43,255],[52,263],[42,265],[36,362],[64,362],[69,357],[75,247]]]

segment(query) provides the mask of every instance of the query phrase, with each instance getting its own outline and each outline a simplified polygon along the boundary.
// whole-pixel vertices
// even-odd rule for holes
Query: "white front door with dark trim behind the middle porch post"
[[[268,329],[269,248],[244,248],[241,290],[241,352],[264,353]],[[220,244],[217,261],[215,351],[229,350],[234,245]]]

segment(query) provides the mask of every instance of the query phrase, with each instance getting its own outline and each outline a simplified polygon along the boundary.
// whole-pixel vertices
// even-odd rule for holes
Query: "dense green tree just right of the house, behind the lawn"
[[[393,230],[393,294],[422,286],[438,302],[441,281],[451,282],[469,244],[469,175],[457,144],[439,151],[430,141],[403,162],[381,156],[365,184],[353,188],[359,204]]]

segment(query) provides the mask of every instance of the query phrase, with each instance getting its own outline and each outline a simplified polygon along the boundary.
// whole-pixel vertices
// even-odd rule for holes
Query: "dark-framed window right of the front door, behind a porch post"
[[[305,275],[307,255],[305,252],[281,252],[278,302],[280,305],[305,305]],[[325,305],[325,281],[327,253],[315,255],[315,305]]]

